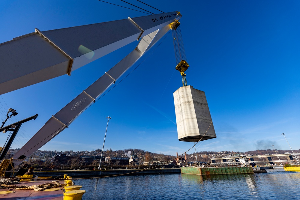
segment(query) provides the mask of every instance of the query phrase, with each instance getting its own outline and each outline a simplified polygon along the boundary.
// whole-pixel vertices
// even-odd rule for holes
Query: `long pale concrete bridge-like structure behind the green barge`
[[[292,154],[265,154],[265,155],[247,155],[250,163],[280,163],[280,162],[292,162],[294,158]],[[262,160],[256,160],[257,158],[262,158]],[[277,159],[277,160],[274,160]],[[221,158],[211,158],[211,163],[228,163],[229,160],[233,160],[233,162],[239,162],[239,156],[232,157],[221,157]]]

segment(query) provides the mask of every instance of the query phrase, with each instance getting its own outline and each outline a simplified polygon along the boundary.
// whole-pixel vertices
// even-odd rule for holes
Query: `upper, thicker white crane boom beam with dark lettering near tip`
[[[82,67],[179,20],[179,12],[35,32],[0,44],[0,94]]]

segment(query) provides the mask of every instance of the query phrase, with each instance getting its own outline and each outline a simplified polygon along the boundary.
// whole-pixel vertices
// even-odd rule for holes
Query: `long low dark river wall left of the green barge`
[[[62,171],[33,171],[38,176],[52,176],[56,178],[67,174],[72,178],[103,177],[111,175],[137,175],[137,174],[180,174],[180,169],[104,169],[104,170],[62,170]]]

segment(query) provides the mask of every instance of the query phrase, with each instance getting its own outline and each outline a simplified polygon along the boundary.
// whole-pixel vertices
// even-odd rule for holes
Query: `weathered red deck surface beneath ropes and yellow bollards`
[[[29,182],[20,182],[20,184],[17,185],[40,185],[44,183],[51,183],[51,180],[42,180],[42,181],[29,181]],[[59,183],[64,184],[63,181],[60,181]],[[58,187],[61,188],[61,190],[57,191],[34,191],[34,190],[15,190],[15,189],[2,189],[2,191],[15,191],[15,193],[9,193],[9,194],[0,194],[1,200],[31,200],[31,199],[37,199],[37,200],[62,200],[63,199],[63,193],[62,190],[63,186]]]

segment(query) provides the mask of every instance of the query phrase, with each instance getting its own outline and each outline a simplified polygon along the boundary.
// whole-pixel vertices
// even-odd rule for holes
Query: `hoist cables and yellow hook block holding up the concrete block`
[[[173,43],[174,43],[174,50],[175,50],[175,58],[176,58],[176,70],[178,70],[182,77],[182,85],[187,86],[187,79],[186,74],[184,73],[189,66],[186,61],[186,55],[183,46],[183,40],[180,30],[180,22],[175,21],[173,22],[170,27],[172,29],[172,36],[173,36]]]

